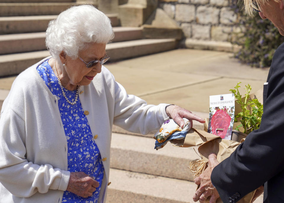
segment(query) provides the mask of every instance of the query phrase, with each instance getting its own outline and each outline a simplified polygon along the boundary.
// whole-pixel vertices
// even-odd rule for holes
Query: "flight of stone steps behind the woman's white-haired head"
[[[7,3],[9,2],[9,3]],[[73,0],[0,0],[0,77],[17,75],[49,56],[45,30],[50,20],[70,6]],[[145,39],[141,27],[120,27],[117,14],[108,14],[115,38],[106,46],[110,61],[175,49],[177,41]]]

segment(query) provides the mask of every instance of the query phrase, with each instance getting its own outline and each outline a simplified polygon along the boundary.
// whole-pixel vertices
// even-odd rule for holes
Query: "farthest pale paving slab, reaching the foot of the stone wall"
[[[240,64],[232,58],[232,53],[211,51],[176,49],[159,54],[133,58],[114,66],[130,67],[135,69],[159,70],[163,72],[201,73],[204,75],[249,78],[266,80],[269,69],[251,68]],[[111,65],[107,66],[111,69]],[[112,69],[111,69],[112,70]],[[113,70],[112,72],[114,72]],[[126,74],[126,73],[125,73]]]

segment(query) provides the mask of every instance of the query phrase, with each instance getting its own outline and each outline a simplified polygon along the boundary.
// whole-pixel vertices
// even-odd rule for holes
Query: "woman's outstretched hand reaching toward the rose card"
[[[193,114],[191,111],[188,111],[186,109],[183,109],[177,105],[170,105],[166,108],[167,115],[172,118],[178,125],[183,128],[184,126],[184,120],[183,118],[187,118],[190,121],[191,127],[192,120],[197,120],[200,123],[205,123],[205,121],[200,118],[199,116]]]

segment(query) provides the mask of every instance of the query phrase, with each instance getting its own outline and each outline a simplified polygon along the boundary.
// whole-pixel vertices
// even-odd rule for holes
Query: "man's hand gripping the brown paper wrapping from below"
[[[193,201],[197,202],[205,202],[206,199],[211,196],[210,203],[215,203],[219,197],[218,191],[212,185],[211,182],[211,173],[215,166],[219,164],[217,161],[216,154],[212,153],[209,155],[208,159],[208,167],[204,170],[204,172],[197,178],[194,179],[194,183],[196,185],[200,185],[198,190],[196,190]]]

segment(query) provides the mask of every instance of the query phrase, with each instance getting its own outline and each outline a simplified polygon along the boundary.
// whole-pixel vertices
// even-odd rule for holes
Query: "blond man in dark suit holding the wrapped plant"
[[[284,35],[283,0],[244,0],[244,4],[248,13],[258,9],[260,17],[271,20]],[[262,185],[264,202],[284,202],[284,43],[274,54],[263,99],[260,128],[220,164],[216,155],[209,156],[208,168],[195,179],[201,184],[193,196],[195,202],[210,196],[214,203],[219,195],[224,203],[238,202]]]

